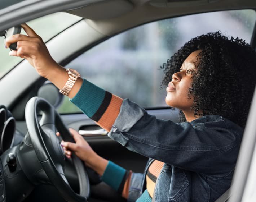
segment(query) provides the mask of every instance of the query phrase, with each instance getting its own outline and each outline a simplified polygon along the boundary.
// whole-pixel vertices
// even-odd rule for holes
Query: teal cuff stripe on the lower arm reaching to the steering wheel
[[[123,167],[109,161],[101,179],[117,191],[124,178],[125,172],[126,170]]]

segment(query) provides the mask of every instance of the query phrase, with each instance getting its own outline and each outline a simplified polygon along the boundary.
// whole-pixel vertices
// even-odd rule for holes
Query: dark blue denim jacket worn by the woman
[[[243,128],[219,115],[189,122],[156,119],[129,99],[123,101],[108,136],[149,157],[144,174],[133,173],[128,201],[145,190],[152,159],[164,162],[155,187],[156,202],[208,202],[231,184]]]

